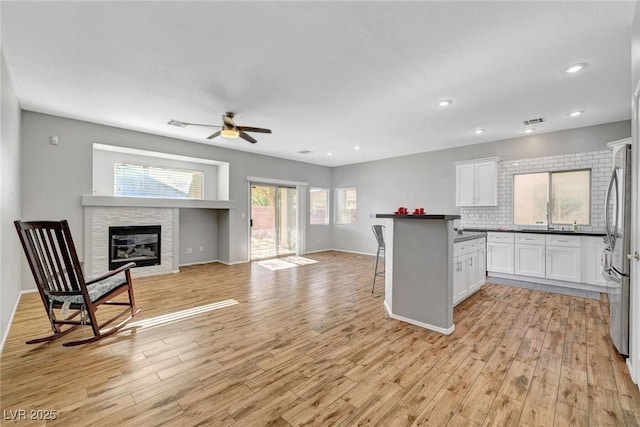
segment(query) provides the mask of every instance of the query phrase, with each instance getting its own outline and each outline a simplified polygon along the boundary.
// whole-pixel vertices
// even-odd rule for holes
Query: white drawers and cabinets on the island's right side
[[[484,237],[454,243],[453,304],[457,304],[486,282]]]

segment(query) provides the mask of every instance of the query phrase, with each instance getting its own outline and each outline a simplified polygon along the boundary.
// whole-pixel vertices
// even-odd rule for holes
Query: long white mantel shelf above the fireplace
[[[85,207],[234,209],[232,200],[156,199],[151,197],[82,196]]]

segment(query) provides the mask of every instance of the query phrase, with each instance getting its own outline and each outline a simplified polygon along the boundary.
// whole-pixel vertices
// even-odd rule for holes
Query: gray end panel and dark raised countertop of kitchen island
[[[385,300],[393,319],[443,334],[453,323],[453,221],[460,215],[385,219]]]

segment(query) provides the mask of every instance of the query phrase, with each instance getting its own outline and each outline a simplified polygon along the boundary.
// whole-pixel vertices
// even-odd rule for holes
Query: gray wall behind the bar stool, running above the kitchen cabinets
[[[607,142],[630,135],[631,123],[627,120],[334,168],[334,188],[358,189],[358,218],[356,225],[334,226],[333,247],[375,253],[371,225],[380,223],[375,214],[392,213],[399,206],[423,207],[428,213],[458,213],[455,161],[494,156],[515,160],[598,151],[606,149]]]

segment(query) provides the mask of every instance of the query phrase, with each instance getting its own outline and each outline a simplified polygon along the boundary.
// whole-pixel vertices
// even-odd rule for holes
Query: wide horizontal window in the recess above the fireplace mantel
[[[114,163],[113,194],[129,197],[203,199],[204,173],[128,163]]]

